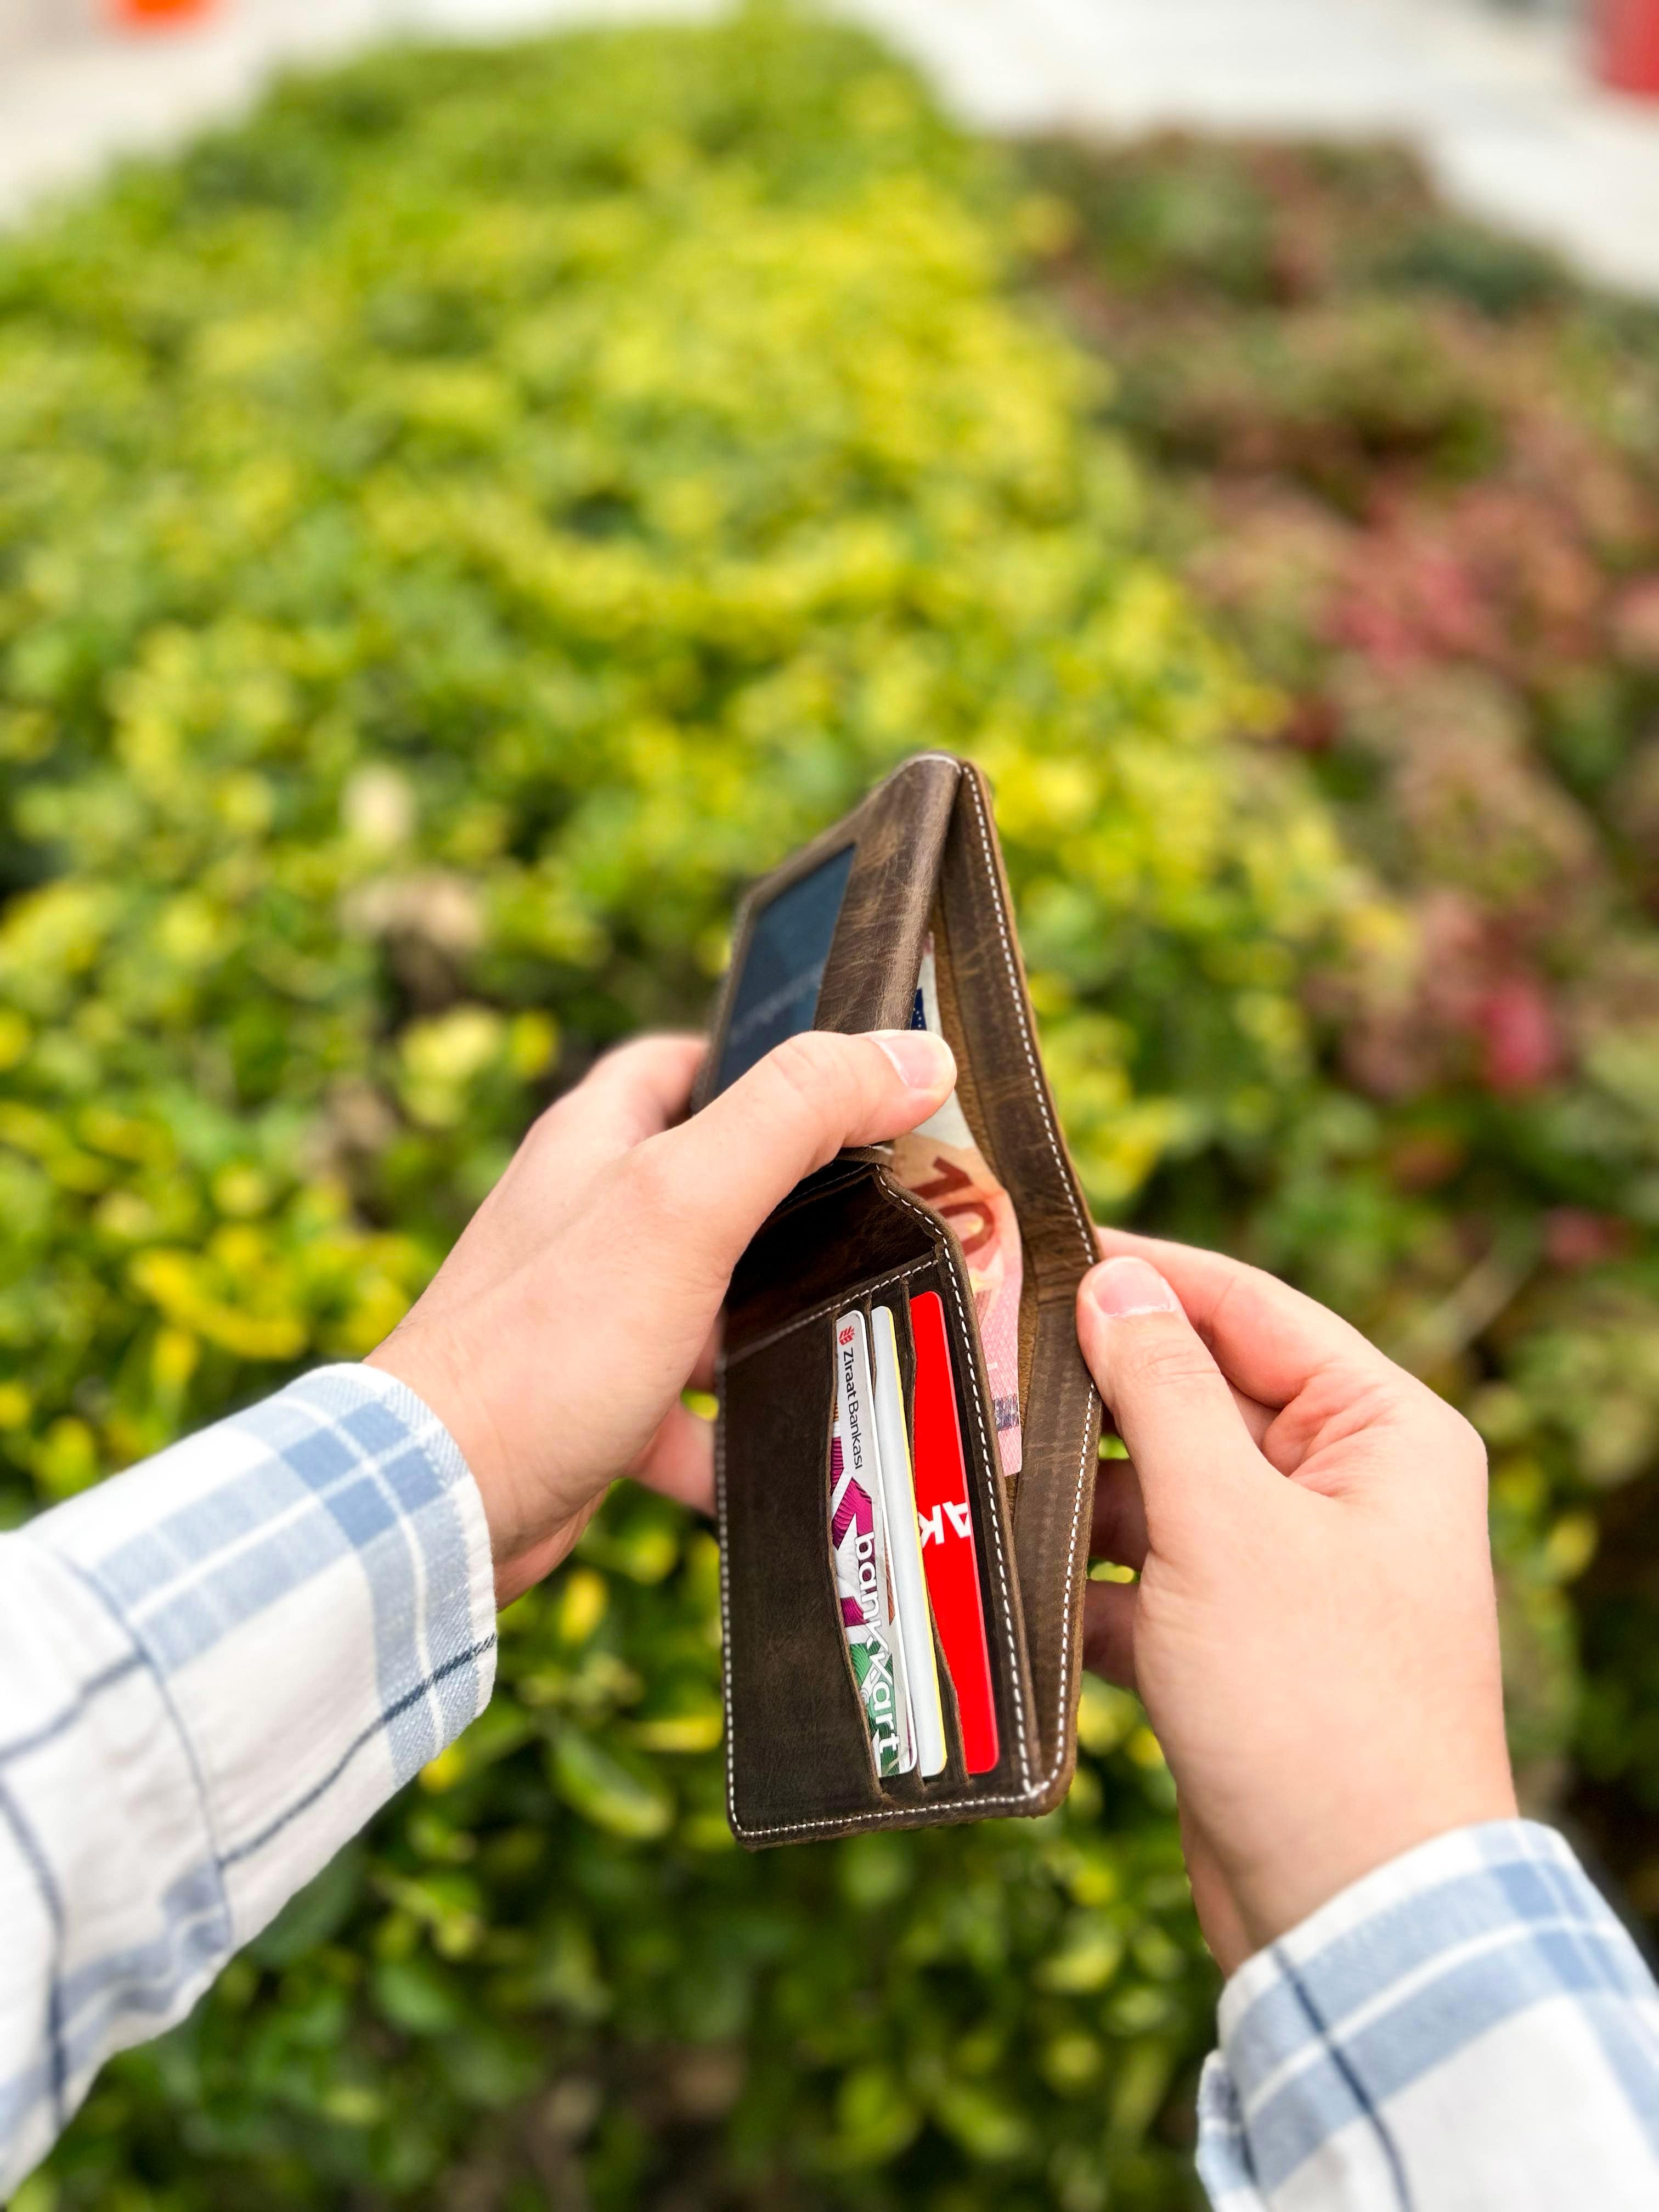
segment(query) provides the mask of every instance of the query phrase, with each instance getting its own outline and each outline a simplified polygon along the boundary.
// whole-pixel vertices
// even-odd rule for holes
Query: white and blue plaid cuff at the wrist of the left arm
[[[248,1942],[489,1703],[478,1486],[376,1367],[321,1367],[29,1526],[126,1628]]]

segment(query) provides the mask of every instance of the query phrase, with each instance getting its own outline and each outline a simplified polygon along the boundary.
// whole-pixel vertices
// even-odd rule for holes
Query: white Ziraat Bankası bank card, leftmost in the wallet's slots
[[[841,1630],[865,1708],[876,1774],[909,1774],[916,1765],[916,1734],[894,1613],[865,1316],[858,1312],[841,1314],[834,1334],[836,1425],[830,1440],[830,1542],[836,1555]]]

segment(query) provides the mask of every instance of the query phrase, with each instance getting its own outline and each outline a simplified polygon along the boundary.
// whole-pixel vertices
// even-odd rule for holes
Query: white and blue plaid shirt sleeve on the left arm
[[[0,2201],[493,1679],[478,1489],[372,1367],[0,1537]]]

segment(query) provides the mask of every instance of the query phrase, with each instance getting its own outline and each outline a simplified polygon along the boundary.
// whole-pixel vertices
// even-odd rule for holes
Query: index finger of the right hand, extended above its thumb
[[[1223,1374],[1261,1405],[1283,1407],[1325,1367],[1391,1369],[1391,1360],[1318,1298],[1225,1252],[1097,1230],[1108,1259],[1157,1267]],[[1402,1374],[1402,1369],[1396,1369]]]

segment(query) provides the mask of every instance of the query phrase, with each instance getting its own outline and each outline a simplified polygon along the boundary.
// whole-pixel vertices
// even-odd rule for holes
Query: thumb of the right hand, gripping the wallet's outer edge
[[[1077,1340],[1141,1480],[1146,1520],[1157,1522],[1201,1482],[1265,1467],[1228,1378],[1144,1259],[1108,1259],[1077,1287]]]

